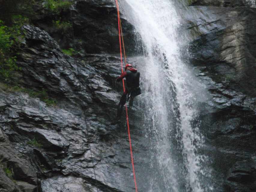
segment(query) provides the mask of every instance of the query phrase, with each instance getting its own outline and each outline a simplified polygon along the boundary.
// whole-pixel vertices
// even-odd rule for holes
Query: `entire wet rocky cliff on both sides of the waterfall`
[[[255,191],[256,8],[244,0],[191,5],[182,30],[211,94],[201,113],[203,153],[212,159],[218,191]],[[61,13],[74,29],[65,33],[43,2],[34,9],[23,26],[16,84],[0,89],[0,191],[134,191],[125,119],[110,125],[122,90],[115,82],[121,68],[114,1],[75,1]],[[123,16],[122,23],[135,54],[136,32]],[[63,54],[70,47],[79,52]],[[47,97],[38,98],[42,93]],[[136,103],[129,110],[138,173],[148,164],[148,141],[134,123],[141,110]]]

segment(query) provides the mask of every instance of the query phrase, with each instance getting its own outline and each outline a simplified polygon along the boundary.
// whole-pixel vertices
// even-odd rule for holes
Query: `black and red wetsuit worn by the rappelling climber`
[[[126,79],[127,86],[118,104],[117,118],[121,117],[123,106],[129,100],[129,98],[131,98],[129,102],[129,107],[131,107],[133,105],[134,97],[141,94],[140,72],[138,72],[137,69],[131,68],[125,71],[116,79],[116,81],[120,82],[123,78]]]

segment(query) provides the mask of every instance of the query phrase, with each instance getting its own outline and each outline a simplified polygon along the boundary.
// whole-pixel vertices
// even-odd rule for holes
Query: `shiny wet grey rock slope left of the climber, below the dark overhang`
[[[23,30],[18,58],[22,75],[16,81],[46,90],[58,103],[47,106],[22,92],[0,92],[0,189],[133,191],[125,117],[123,123],[110,125],[122,90],[115,82],[119,57],[71,58],[47,32],[29,25]],[[134,114],[131,134],[139,141],[141,130],[132,125],[137,114],[133,108],[129,112]],[[135,157],[145,153],[140,152],[143,143],[135,143]],[[13,173],[10,178],[6,168]]]

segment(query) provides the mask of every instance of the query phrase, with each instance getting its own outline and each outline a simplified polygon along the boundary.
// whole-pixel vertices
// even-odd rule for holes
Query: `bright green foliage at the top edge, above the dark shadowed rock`
[[[59,13],[60,11],[67,10],[72,4],[73,2],[67,0],[46,0],[44,7],[53,13]]]

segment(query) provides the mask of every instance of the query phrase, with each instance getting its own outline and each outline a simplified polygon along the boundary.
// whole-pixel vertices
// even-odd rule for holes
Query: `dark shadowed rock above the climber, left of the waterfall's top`
[[[115,1],[74,1],[71,8],[63,11],[59,16],[72,24],[72,27],[65,32],[57,29],[52,23],[52,20],[58,20],[59,17],[47,13],[46,8],[40,2],[38,4],[38,15],[32,18],[33,23],[50,33],[63,49],[74,48],[80,52],[94,54],[119,52]],[[121,22],[126,51],[136,53],[134,27],[122,15]]]

